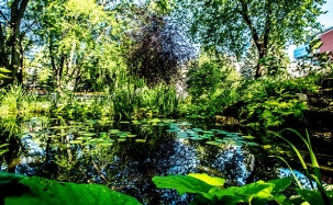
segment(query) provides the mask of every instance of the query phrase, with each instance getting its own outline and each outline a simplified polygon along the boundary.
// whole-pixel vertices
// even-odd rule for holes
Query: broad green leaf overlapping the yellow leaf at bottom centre
[[[177,190],[179,195],[193,193],[202,194],[210,200],[212,198],[208,193],[214,186],[189,175],[154,176],[152,180],[157,187]]]

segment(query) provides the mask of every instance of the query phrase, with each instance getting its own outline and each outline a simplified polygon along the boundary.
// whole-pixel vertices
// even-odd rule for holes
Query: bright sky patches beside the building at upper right
[[[322,7],[323,11],[328,11],[328,13],[322,14],[318,18],[318,21],[323,24],[324,29],[333,26],[333,0],[326,0],[326,3]],[[288,56],[292,60],[293,59],[293,49],[297,46],[291,45],[288,48]]]

